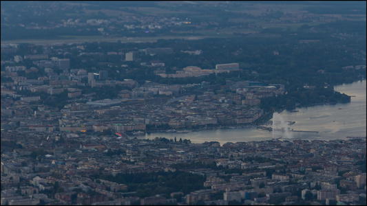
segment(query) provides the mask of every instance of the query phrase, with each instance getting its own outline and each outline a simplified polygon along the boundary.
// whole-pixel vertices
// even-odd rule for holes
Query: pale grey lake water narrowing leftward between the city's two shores
[[[238,141],[263,141],[273,137],[282,139],[346,139],[346,137],[366,137],[366,80],[352,84],[342,84],[335,91],[352,95],[350,103],[317,105],[296,108],[299,112],[282,111],[280,116],[285,121],[295,124],[288,125],[290,130],[318,131],[319,133],[293,132],[285,135],[281,131],[273,132],[256,128],[221,128],[217,130],[200,130],[191,133],[150,133],[138,136],[139,139],[190,139],[193,143],[218,141],[220,144]]]

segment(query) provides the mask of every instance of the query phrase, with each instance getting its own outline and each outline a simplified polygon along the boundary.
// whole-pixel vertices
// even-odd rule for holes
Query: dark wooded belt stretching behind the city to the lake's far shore
[[[302,26],[304,30],[308,25]],[[328,30],[336,30],[333,25]],[[333,85],[350,83],[355,80],[366,78],[366,69],[342,69],[350,65],[365,65],[363,52],[366,50],[366,39],[359,36],[353,38],[332,38],[324,34],[306,34],[291,36],[284,31],[278,31],[280,36],[266,38],[264,36],[243,36],[242,38],[205,38],[196,41],[187,41],[183,39],[160,39],[156,43],[85,43],[85,52],[130,52],[139,51],[139,49],[172,47],[173,54],[156,54],[155,56],[145,55],[139,52],[138,61],[121,62],[121,56],[101,55],[88,58],[80,56],[78,49],[71,45],[64,45],[70,48],[70,53],[55,54],[59,58],[70,58],[72,67],[83,68],[88,72],[98,72],[101,69],[108,71],[110,80],[133,79],[139,84],[144,84],[146,80],[158,82],[160,84],[193,84],[202,81],[210,84],[225,85],[226,80],[241,81],[252,80],[260,81],[266,84],[284,84],[289,93],[282,97],[275,98],[273,101],[275,107],[284,108],[294,107],[296,103],[301,106],[321,103],[348,102],[344,95],[325,90],[324,87],[332,88]],[[357,31],[356,31],[357,32]],[[357,32],[358,33],[358,32]],[[311,38],[311,37],[315,38]],[[313,40],[309,43],[300,43],[302,39]],[[316,38],[318,37],[318,39]],[[64,48],[61,46],[60,48]],[[55,46],[56,48],[56,46]],[[41,50],[41,47],[33,49]],[[200,49],[202,54],[190,55],[181,51],[194,51]],[[274,55],[273,52],[279,52]],[[32,54],[27,45],[19,46],[19,54]],[[1,54],[6,56],[7,54]],[[125,56],[123,56],[125,60]],[[156,76],[153,67],[141,65],[141,62],[150,62],[152,60],[162,60],[165,62],[166,73],[176,73],[187,66],[197,66],[202,69],[214,69],[217,64],[238,62],[240,71],[231,73],[211,74],[199,78],[161,78]],[[32,61],[27,63],[27,67],[32,67]],[[107,67],[108,64],[116,65]],[[125,64],[127,67],[120,67]],[[6,66],[3,65],[2,68]],[[56,72],[61,72],[56,70]],[[41,69],[38,73],[20,73],[27,78],[36,78],[44,75]],[[4,79],[6,80],[6,79]],[[86,82],[87,80],[83,80]],[[314,86],[315,90],[304,90],[305,85]],[[82,93],[96,92],[96,98],[117,98],[119,89],[129,88],[80,88]],[[101,92],[103,90],[103,92]],[[41,95],[42,96],[42,95]],[[319,98],[319,97],[322,98]],[[61,99],[60,99],[61,98]],[[43,98],[41,98],[43,99]],[[66,104],[67,93],[52,95],[50,98],[44,98],[43,103],[62,108]],[[271,109],[268,100],[262,103],[266,110]],[[266,103],[268,102],[268,103]]]

